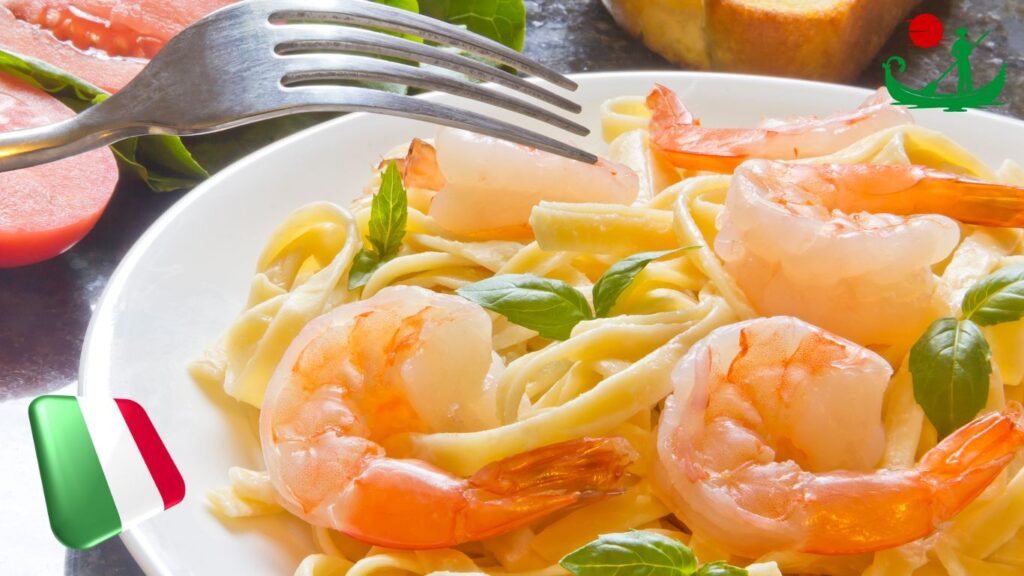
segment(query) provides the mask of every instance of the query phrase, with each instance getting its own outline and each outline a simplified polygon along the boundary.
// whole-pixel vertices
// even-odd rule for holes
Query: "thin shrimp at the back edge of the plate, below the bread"
[[[749,158],[793,160],[843,150],[879,130],[910,124],[910,114],[889,104],[880,88],[859,108],[824,118],[763,122],[759,128],[703,128],[675,92],[655,85],[647,96],[654,149],[679,168],[731,172]]]

